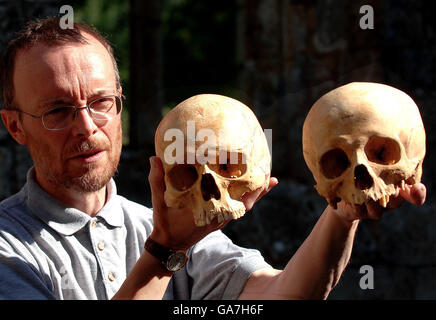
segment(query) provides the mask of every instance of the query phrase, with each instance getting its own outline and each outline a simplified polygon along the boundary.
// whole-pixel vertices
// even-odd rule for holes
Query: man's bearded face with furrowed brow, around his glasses
[[[54,107],[79,107],[120,94],[109,53],[94,38],[87,39],[86,45],[39,44],[19,52],[13,79],[16,105],[41,115]],[[41,119],[23,114],[21,126],[37,181],[47,191],[59,187],[97,191],[116,171],[122,147],[121,113],[98,127],[81,109],[71,127],[59,131],[47,130]]]

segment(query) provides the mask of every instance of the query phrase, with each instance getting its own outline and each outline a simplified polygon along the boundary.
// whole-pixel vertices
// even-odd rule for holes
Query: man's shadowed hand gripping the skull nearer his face
[[[230,220],[218,223],[214,219],[210,224],[197,227],[194,223],[194,215],[191,209],[175,209],[167,207],[164,200],[165,180],[162,162],[159,157],[150,158],[150,173],[148,176],[152,194],[154,228],[151,238],[163,246],[188,250],[209,233],[223,228]],[[254,203],[259,201],[278,183],[277,179],[271,178],[267,190],[258,189],[243,196],[246,211],[250,210]]]

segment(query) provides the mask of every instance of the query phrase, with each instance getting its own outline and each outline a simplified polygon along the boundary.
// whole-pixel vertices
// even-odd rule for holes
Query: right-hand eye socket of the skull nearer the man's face
[[[242,153],[227,152],[226,156],[217,156],[216,163],[209,164],[209,168],[222,177],[235,179],[244,175],[247,164]]]

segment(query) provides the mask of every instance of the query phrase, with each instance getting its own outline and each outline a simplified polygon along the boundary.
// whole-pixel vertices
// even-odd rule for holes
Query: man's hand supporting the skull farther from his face
[[[401,206],[404,200],[421,206],[425,202],[427,190],[422,183],[414,185],[405,185],[404,190],[397,189],[397,194],[389,198],[386,208],[383,208],[378,202],[368,201],[367,203],[356,206],[355,209],[350,204],[341,201],[338,203],[336,212],[346,221],[361,219],[380,219],[383,213],[392,211]]]

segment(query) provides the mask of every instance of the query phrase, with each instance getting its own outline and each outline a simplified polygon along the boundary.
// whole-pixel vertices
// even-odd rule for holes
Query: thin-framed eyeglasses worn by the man
[[[121,96],[124,98],[124,96]],[[94,123],[102,127],[113,117],[121,112],[123,107],[121,97],[117,95],[104,96],[95,99],[83,107],[63,106],[44,111],[40,116],[15,109],[15,111],[27,114],[33,118],[41,118],[44,128],[47,130],[62,130],[70,127],[77,117],[77,111],[88,109]]]

